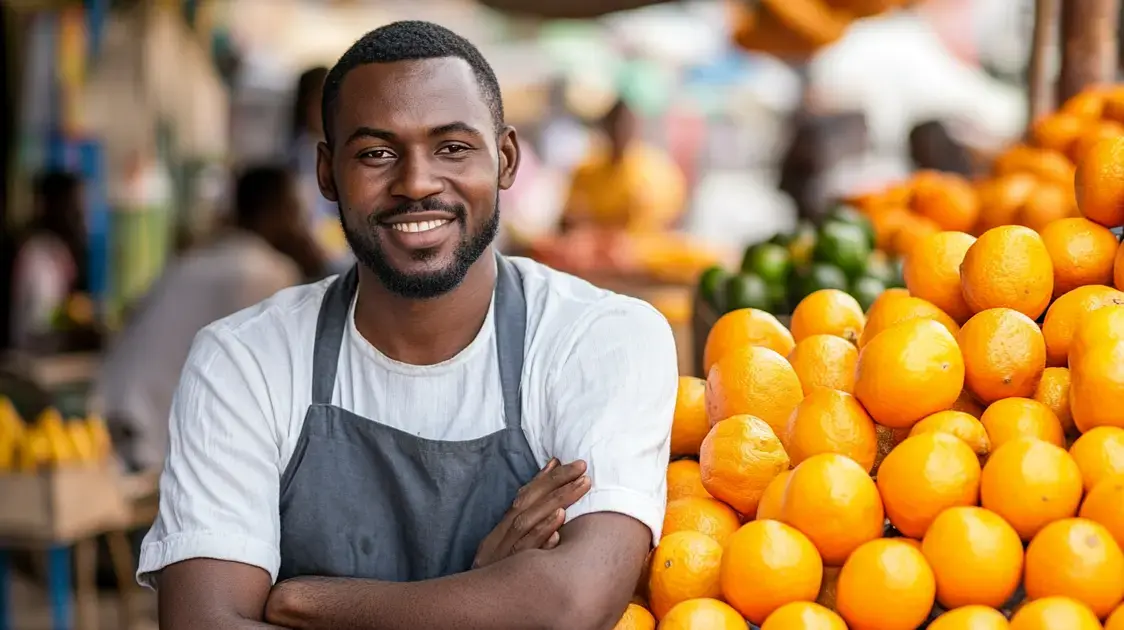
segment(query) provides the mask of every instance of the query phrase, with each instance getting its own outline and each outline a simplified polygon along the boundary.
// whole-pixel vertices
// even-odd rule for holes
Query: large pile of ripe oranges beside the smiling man
[[[980,230],[979,205],[865,313],[827,289],[789,327],[715,324],[618,630],[1124,630],[1124,128],[1089,94],[1013,150],[1108,136],[1069,171],[1079,215]],[[897,194],[921,213],[933,189]]]

